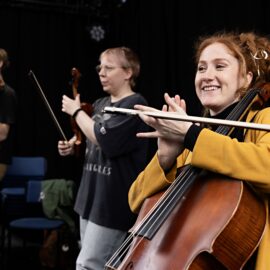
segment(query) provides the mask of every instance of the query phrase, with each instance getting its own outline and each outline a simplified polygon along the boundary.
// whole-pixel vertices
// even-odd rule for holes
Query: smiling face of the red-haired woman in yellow
[[[196,94],[211,115],[222,112],[239,100],[237,90],[251,81],[251,74],[240,74],[236,57],[222,43],[213,43],[201,53],[195,76]]]

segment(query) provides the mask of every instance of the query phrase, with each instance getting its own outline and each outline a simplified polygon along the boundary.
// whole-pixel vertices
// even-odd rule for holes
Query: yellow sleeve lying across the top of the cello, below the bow
[[[259,112],[254,122],[270,124],[270,108]],[[196,141],[191,164],[209,171],[252,182],[270,192],[270,132],[248,130],[239,142],[208,129]]]

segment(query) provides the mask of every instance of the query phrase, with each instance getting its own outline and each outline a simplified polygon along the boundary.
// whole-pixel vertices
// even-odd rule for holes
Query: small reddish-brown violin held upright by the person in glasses
[[[76,98],[78,95],[78,86],[79,86],[79,80],[81,78],[81,73],[80,71],[73,67],[71,69],[71,76],[72,76],[72,93],[73,93],[73,98]],[[81,103],[81,108],[83,109],[84,112],[86,112],[87,115],[91,116],[93,112],[92,105],[90,103],[82,102]],[[72,131],[74,132],[76,136],[76,141],[75,141],[75,156],[79,157],[84,154],[85,150],[85,135],[81,131],[80,127],[77,125],[75,119],[71,118],[71,127]]]

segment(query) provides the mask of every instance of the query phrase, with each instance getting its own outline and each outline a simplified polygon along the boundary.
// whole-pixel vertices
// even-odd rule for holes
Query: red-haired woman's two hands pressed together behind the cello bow
[[[163,112],[175,112],[186,115],[186,103],[179,95],[170,97],[167,93],[164,95],[166,104],[163,105]],[[135,105],[135,109],[141,111],[158,111],[157,109]],[[141,138],[158,138],[158,159],[160,166],[166,170],[175,162],[177,156],[183,151],[183,142],[185,135],[192,125],[189,122],[166,120],[154,118],[144,114],[139,114],[141,119],[149,126],[155,129],[152,132],[138,133]]]

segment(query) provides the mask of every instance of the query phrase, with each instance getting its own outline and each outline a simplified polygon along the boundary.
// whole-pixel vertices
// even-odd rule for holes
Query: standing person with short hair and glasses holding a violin
[[[142,95],[134,92],[140,64],[129,48],[117,47],[100,55],[97,72],[108,96],[93,103],[90,117],[81,109],[80,97],[63,96],[62,111],[73,116],[86,136],[82,179],[75,203],[80,216],[81,250],[76,269],[104,269],[135,222],[128,205],[128,190],[145,167],[148,141],[136,133],[147,131],[137,116],[102,113],[105,106],[133,108],[146,105]],[[73,137],[59,141],[60,155],[74,153]]]

